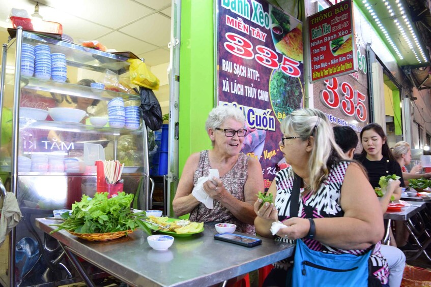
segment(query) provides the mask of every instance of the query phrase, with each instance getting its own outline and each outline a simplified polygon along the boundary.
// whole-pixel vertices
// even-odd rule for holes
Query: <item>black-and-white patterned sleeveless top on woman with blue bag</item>
[[[324,218],[324,217],[342,217],[344,211],[340,206],[341,186],[346,175],[347,167],[350,162],[340,162],[334,165],[329,172],[328,178],[320,186],[315,194],[308,194],[305,197],[300,196],[299,210],[296,216],[302,218]],[[290,217],[290,196],[293,188],[293,171],[292,168],[280,170],[275,176],[277,186],[277,196],[275,199],[275,207],[278,210],[279,219]],[[302,192],[302,188],[301,188]],[[285,239],[277,236],[277,241],[295,243],[294,240]],[[350,253],[354,255],[363,255],[369,249],[350,249],[343,250],[329,245],[323,244],[317,240],[302,239],[308,248],[325,253]],[[389,269],[386,259],[380,253],[380,243],[377,243],[369,258],[371,263],[371,272],[377,277],[382,284],[388,283]],[[277,268],[289,268],[290,262],[287,260],[280,261],[274,264]]]

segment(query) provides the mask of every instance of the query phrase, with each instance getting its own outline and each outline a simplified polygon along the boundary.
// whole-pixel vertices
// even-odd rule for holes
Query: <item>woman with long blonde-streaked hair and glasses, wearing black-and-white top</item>
[[[277,241],[302,240],[309,249],[332,254],[361,256],[371,250],[368,280],[387,284],[388,266],[378,243],[383,216],[366,172],[344,155],[319,110],[294,111],[281,122],[281,132],[280,150],[291,167],[275,175],[268,190],[274,203],[255,202],[256,232],[273,238],[270,228],[279,220],[286,228],[276,232]],[[296,188],[294,178],[299,182]],[[274,266],[264,286],[286,286],[291,260]]]

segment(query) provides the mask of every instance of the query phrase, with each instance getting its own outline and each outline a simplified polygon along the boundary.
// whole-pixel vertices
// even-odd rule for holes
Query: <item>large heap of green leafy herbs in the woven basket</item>
[[[72,204],[72,215],[62,214],[65,219],[51,233],[66,229],[76,233],[107,233],[140,228],[151,234],[151,230],[143,224],[145,211],[133,213],[130,204],[132,194],[118,193],[117,197],[108,199],[107,193],[96,193],[93,199],[83,195],[80,202]]]

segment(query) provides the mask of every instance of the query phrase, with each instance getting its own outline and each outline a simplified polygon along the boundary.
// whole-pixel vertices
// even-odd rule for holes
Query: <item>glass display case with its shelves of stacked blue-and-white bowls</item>
[[[124,191],[135,194],[135,208],[148,209],[147,129],[140,116],[128,121],[117,112],[118,102],[125,111],[140,106],[127,60],[20,28],[3,46],[0,176],[24,216],[9,236],[7,267],[0,264],[3,285],[75,281],[61,248],[34,228],[34,218],[91,197],[96,160],[124,163]]]

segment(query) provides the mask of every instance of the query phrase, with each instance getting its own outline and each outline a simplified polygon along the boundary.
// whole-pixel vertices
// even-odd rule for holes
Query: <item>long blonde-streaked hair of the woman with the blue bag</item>
[[[326,115],[316,109],[300,109],[292,112],[281,122],[281,132],[288,137],[299,137],[306,141],[314,137],[313,149],[308,163],[309,186],[317,192],[320,185],[328,178],[331,166],[338,160],[349,160],[336,144],[332,127]]]

